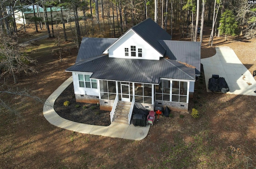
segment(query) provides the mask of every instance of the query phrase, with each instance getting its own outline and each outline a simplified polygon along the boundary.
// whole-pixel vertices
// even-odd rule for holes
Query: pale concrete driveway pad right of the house
[[[208,81],[212,75],[224,77],[229,87],[229,94],[256,96],[256,81],[248,69],[230,47],[216,47],[216,55],[201,59],[207,92]]]

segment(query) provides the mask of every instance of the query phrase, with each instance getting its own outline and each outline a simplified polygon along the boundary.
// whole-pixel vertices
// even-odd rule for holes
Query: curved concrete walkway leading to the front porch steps
[[[44,103],[43,113],[44,117],[50,124],[72,130],[74,132],[84,134],[94,134],[100,136],[108,136],[113,138],[123,138],[128,140],[142,140],[148,135],[150,125],[146,127],[125,125],[125,124],[110,124],[110,126],[94,126],[89,124],[81,124],[72,122],[60,117],[54,110],[54,102],[63,90],[72,83],[72,77],[68,78],[60,87],[58,87]]]

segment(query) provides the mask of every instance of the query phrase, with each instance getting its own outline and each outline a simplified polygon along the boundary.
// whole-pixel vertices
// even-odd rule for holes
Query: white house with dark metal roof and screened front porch
[[[112,121],[126,111],[129,123],[134,104],[188,111],[200,51],[200,42],[172,41],[148,18],[118,39],[83,38],[76,63],[66,71],[72,72],[77,102],[100,103]]]

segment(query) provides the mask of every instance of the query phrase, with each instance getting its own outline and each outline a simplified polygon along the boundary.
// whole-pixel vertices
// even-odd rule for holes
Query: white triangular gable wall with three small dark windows
[[[108,53],[109,57],[123,59],[159,60],[160,57],[163,57],[161,53],[156,51],[154,47],[132,29],[127,31],[103,53]]]

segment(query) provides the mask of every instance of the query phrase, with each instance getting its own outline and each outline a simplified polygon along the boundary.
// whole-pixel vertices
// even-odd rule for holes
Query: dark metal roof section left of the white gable
[[[102,55],[105,49],[112,45],[116,40],[117,38],[84,37],[78,51],[76,63],[84,59]]]

